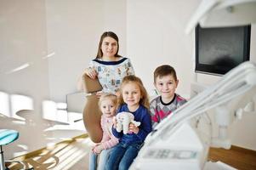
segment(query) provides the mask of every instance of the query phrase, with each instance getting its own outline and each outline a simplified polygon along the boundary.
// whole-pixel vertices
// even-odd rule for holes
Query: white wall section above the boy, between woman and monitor
[[[177,70],[178,93],[189,97],[194,39],[185,35],[185,26],[198,2],[128,1],[128,56],[149,93],[156,66],[169,64]]]

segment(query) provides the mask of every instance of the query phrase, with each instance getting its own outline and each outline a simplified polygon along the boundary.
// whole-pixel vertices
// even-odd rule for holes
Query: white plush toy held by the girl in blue
[[[122,111],[117,114],[117,132],[123,131],[124,134],[128,133],[130,122],[134,123],[136,127],[139,127],[140,122],[134,121],[134,115],[132,113]]]

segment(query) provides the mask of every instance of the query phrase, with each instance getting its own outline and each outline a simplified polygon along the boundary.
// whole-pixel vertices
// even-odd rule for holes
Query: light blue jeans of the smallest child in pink
[[[94,152],[91,150],[89,154],[89,170],[104,170],[105,169],[105,163],[109,157],[109,154],[111,152],[111,149],[108,150],[102,150],[100,152],[100,155],[94,154]],[[99,161],[97,164],[97,158],[99,157]],[[98,165],[98,166],[97,166]],[[98,167],[98,168],[97,168]]]

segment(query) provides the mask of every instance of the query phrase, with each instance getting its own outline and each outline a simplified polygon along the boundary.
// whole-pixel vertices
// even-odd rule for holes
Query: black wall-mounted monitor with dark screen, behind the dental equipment
[[[251,26],[196,26],[196,72],[224,75],[249,60]]]

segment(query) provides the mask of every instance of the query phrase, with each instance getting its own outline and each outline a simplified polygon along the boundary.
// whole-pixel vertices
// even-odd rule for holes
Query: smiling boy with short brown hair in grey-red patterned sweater
[[[186,99],[175,94],[178,83],[176,71],[172,66],[161,65],[154,71],[154,85],[160,96],[151,101],[150,111],[153,128],[180,105],[185,104]]]

